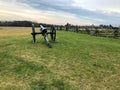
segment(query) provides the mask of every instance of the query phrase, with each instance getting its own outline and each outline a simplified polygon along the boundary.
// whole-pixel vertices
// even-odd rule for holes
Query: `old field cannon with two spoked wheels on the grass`
[[[35,25],[32,24],[32,33],[31,35],[33,36],[33,42],[36,42],[36,35],[41,34],[44,37],[45,43],[49,48],[52,48],[49,39],[48,39],[48,34],[50,34],[51,40],[55,42],[56,40],[56,30],[54,26],[51,26],[50,32],[47,32],[47,28],[43,27],[40,25],[40,32],[35,32]]]

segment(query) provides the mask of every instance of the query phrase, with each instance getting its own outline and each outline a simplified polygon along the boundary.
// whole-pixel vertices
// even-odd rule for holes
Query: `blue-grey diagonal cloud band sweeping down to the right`
[[[79,6],[77,6],[76,1],[78,1],[77,3],[79,4]],[[104,11],[101,9],[101,6],[99,7],[97,3],[97,0],[93,0],[91,5],[95,5],[97,4],[96,7],[99,7],[98,10],[93,10],[93,8],[91,9],[87,9],[87,8],[83,8],[82,5],[84,4],[90,4],[90,2],[88,0],[85,0],[85,3],[80,3],[82,2],[81,0],[41,0],[40,2],[38,0],[29,0],[26,1],[25,3],[28,3],[29,5],[31,5],[34,8],[37,8],[39,10],[45,10],[45,11],[57,11],[57,12],[67,12],[70,14],[74,14],[77,18],[83,18],[86,19],[87,21],[92,20],[91,22],[93,23],[108,23],[110,24],[110,22],[113,22],[113,20],[115,21],[119,21],[119,16],[116,16],[115,14],[113,14],[112,11]],[[102,0],[101,4],[103,4],[105,1]],[[37,3],[37,4],[36,4]],[[107,2],[105,2],[107,3]],[[111,2],[112,3],[112,2]],[[95,6],[94,5],[94,6]],[[106,5],[106,4],[105,4]],[[104,5],[104,6],[105,6]],[[87,7],[87,5],[85,5]],[[109,5],[107,5],[109,6]],[[111,6],[110,6],[111,7]],[[103,7],[104,8],[104,7]],[[108,13],[108,12],[112,12],[112,13]],[[120,13],[118,13],[120,14]],[[117,14],[117,15],[118,15]],[[87,17],[87,18],[86,18]],[[115,22],[114,22],[115,23]]]

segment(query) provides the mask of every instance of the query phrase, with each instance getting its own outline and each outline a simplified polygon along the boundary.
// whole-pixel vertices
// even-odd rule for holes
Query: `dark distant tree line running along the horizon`
[[[36,27],[39,27],[39,25],[43,25],[46,27],[49,27],[53,24],[46,24],[46,23],[37,23],[37,22],[32,22],[32,21],[0,21],[0,26],[19,26],[19,27],[31,27],[32,23],[35,24]],[[65,24],[65,25],[54,25],[55,27],[66,27],[66,29],[70,28],[70,27],[74,27],[77,25],[72,25],[72,24]],[[102,28],[112,28],[112,25],[99,25],[99,26],[95,26],[95,25],[89,25],[89,26],[78,26],[78,27],[102,27]]]

